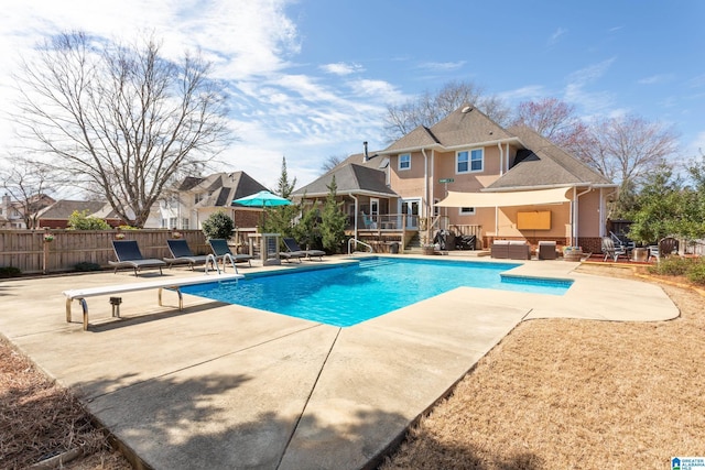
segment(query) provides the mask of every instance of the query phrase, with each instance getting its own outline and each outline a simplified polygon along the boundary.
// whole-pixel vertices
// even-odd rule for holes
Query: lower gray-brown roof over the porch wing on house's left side
[[[359,194],[398,197],[398,194],[387,186],[384,172],[370,166],[359,165],[357,163],[346,163],[336,166],[313,183],[296,189],[292,196],[326,196],[328,194],[328,186],[330,186],[334,176],[335,184],[337,186],[336,193],[338,195]]]

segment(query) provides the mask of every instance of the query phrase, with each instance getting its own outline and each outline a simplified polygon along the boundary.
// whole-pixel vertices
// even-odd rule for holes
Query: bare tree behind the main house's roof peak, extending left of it
[[[449,81],[438,91],[426,91],[401,105],[388,105],[384,133],[394,141],[419,125],[432,127],[463,105],[473,105],[498,123],[506,123],[509,108],[496,96],[486,96],[471,81]]]

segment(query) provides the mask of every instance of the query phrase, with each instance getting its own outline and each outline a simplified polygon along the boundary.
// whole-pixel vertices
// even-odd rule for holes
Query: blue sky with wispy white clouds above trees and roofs
[[[7,0],[3,0],[7,1]],[[558,98],[585,120],[637,114],[705,152],[701,0],[23,0],[0,11],[0,164],[17,142],[12,74],[50,35],[145,32],[177,59],[200,51],[230,91],[237,141],[218,171],[296,187],[332,156],[382,150],[383,117],[449,81],[516,108]],[[6,159],[4,161],[2,159]]]

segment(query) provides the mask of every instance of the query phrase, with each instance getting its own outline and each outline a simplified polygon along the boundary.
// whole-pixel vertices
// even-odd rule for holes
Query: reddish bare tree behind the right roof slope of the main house
[[[577,117],[575,106],[556,98],[520,102],[512,125],[531,128],[571,153],[585,149],[589,139],[587,125]]]

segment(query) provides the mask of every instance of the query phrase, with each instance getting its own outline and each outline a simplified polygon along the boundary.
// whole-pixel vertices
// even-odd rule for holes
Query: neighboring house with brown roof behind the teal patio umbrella
[[[225,210],[239,228],[254,228],[261,209],[236,207],[232,200],[267,188],[245,172],[216,173],[206,177],[188,176],[160,203],[159,227],[181,230],[200,229],[204,220]]]

